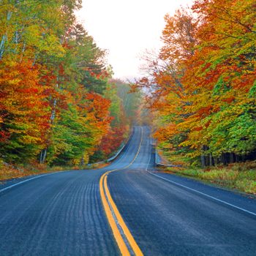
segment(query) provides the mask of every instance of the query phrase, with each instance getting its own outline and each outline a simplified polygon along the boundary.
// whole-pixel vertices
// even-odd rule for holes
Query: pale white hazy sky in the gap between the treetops
[[[108,50],[115,78],[138,78],[139,56],[159,49],[164,16],[192,0],[83,0],[79,20],[100,48]]]

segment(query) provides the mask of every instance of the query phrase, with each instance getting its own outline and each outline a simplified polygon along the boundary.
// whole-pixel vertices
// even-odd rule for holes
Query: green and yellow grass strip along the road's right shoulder
[[[171,173],[192,176],[202,181],[219,184],[256,195],[256,161],[235,163],[227,166],[208,167],[168,167]]]

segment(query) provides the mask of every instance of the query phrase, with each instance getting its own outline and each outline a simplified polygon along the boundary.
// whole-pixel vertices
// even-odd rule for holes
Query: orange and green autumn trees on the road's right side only
[[[176,165],[256,158],[256,2],[197,0],[165,15],[145,77],[158,148]]]

